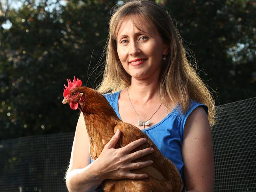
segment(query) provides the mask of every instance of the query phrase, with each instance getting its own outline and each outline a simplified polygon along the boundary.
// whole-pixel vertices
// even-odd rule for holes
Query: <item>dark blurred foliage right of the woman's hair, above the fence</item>
[[[163,1],[216,105],[256,96],[256,2]],[[207,75],[206,75],[207,74]],[[211,90],[210,89],[210,90]]]

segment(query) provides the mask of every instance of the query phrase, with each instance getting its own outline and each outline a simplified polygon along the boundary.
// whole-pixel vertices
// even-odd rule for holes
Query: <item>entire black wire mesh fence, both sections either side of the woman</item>
[[[220,106],[212,129],[215,192],[256,192],[256,98]],[[0,192],[67,192],[74,133],[0,141]]]

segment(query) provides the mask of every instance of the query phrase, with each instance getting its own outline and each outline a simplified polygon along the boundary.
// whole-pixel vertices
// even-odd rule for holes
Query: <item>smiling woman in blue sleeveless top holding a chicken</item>
[[[105,97],[119,118],[144,131],[174,162],[186,191],[213,191],[210,124],[214,123],[214,102],[189,65],[171,17],[154,2],[131,1],[115,11],[109,29],[106,68],[98,90],[112,92]],[[145,142],[139,139],[115,149],[119,137],[117,131],[91,163],[80,115],[66,175],[70,192],[94,191],[104,179],[147,177],[130,170],[152,162],[131,161],[152,153],[151,148],[130,154],[132,148]]]

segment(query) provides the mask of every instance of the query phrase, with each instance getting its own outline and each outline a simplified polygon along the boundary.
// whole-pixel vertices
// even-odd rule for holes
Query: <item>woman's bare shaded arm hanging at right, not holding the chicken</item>
[[[187,118],[182,145],[187,192],[213,192],[214,157],[211,128],[202,107]]]

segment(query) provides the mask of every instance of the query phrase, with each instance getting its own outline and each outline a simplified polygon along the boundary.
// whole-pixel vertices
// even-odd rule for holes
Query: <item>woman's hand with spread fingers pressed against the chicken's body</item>
[[[140,138],[124,146],[123,148],[115,149],[115,144],[117,144],[120,135],[121,131],[117,129],[115,135],[113,135],[108,144],[106,144],[98,159],[93,162],[96,163],[95,167],[98,167],[98,177],[100,177],[102,180],[147,178],[147,174],[135,174],[131,173],[130,170],[149,166],[153,163],[153,161],[131,161],[152,153],[154,151],[153,148],[146,148],[134,153],[130,153],[130,151],[146,142],[145,138]]]

